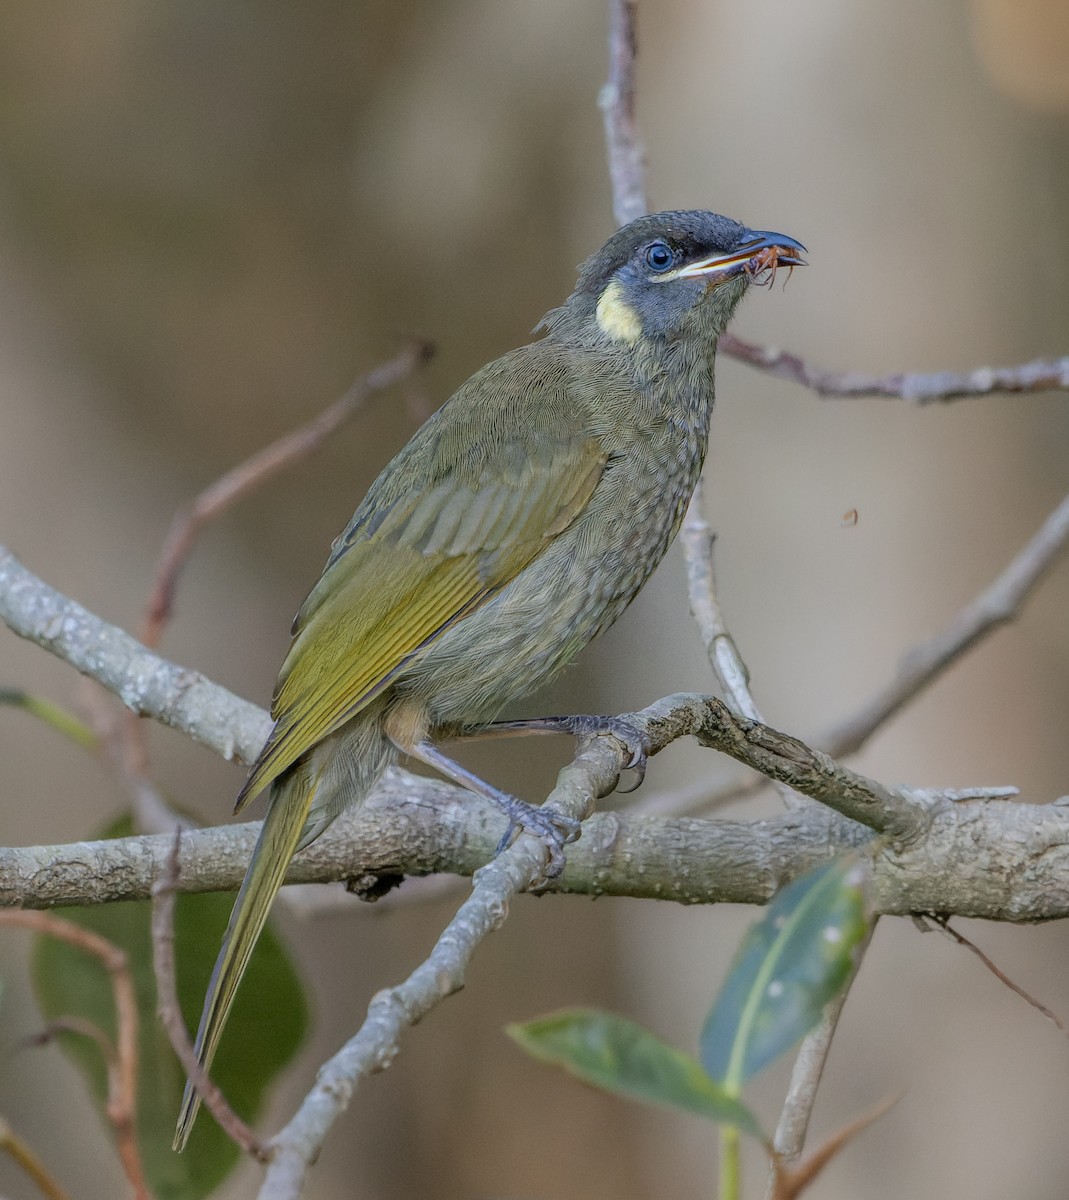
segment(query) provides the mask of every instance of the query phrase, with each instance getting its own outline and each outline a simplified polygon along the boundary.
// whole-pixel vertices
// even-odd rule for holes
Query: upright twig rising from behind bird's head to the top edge
[[[636,0],[609,0],[608,83],[597,106],[605,121],[612,208],[617,224],[648,211],[645,152],[635,124]]]

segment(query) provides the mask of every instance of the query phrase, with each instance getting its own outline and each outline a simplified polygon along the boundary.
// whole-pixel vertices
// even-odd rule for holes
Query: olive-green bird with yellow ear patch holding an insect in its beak
[[[301,606],[270,736],[235,811],[266,817],[194,1043],[211,1066],[290,858],[361,804],[400,754],[497,804],[559,874],[577,822],[484,782],[438,743],[480,733],[641,736],[599,718],[496,722],[627,607],[702,472],[716,342],[755,282],[805,247],[702,210],[618,229],[543,336],[490,362],[412,437],[335,540]],[[199,1097],[186,1084],[175,1150]]]

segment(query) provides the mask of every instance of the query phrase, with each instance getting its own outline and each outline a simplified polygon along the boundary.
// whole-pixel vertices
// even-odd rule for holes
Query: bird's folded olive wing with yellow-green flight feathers
[[[414,473],[401,470],[400,481],[412,488],[406,494],[396,469],[372,487],[294,622],[272,704],[275,727],[239,809],[582,512],[608,458],[601,443],[576,436],[573,418],[555,428],[546,421],[520,425],[484,461],[474,452],[457,460],[456,430],[448,422],[432,428],[422,487]],[[442,462],[449,468],[440,469]]]

